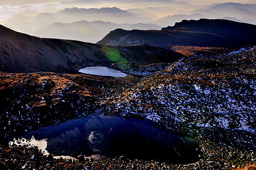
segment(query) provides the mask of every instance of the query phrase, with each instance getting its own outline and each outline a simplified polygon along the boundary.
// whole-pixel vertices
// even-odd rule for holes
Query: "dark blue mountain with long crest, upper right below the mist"
[[[183,20],[160,31],[115,29],[97,44],[240,48],[256,44],[255,30],[256,25],[224,19]]]

